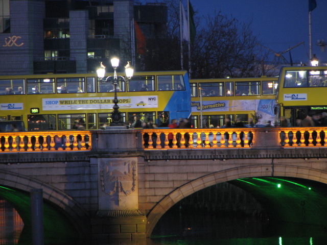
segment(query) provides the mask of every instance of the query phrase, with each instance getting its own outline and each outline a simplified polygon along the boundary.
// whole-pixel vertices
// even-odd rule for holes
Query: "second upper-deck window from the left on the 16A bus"
[[[27,79],[27,93],[55,93],[55,79]]]

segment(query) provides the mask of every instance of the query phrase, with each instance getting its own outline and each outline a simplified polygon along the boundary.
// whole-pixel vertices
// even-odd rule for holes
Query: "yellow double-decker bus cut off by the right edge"
[[[326,94],[327,66],[283,67],[277,93],[278,115],[287,120],[288,126],[300,126],[308,115],[319,120],[327,112]]]

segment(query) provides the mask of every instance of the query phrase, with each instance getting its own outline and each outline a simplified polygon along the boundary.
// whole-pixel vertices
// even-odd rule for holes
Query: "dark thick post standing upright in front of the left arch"
[[[43,245],[43,190],[31,190],[32,236],[33,245]]]

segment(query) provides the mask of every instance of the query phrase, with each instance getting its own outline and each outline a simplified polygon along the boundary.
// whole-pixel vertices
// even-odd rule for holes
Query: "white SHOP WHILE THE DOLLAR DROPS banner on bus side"
[[[118,97],[120,108],[157,108],[158,96]],[[43,111],[112,109],[113,97],[42,99]]]

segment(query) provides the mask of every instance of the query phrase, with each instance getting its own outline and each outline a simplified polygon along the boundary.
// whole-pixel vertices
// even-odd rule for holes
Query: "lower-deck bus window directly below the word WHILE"
[[[59,114],[58,130],[85,129],[85,114]]]

